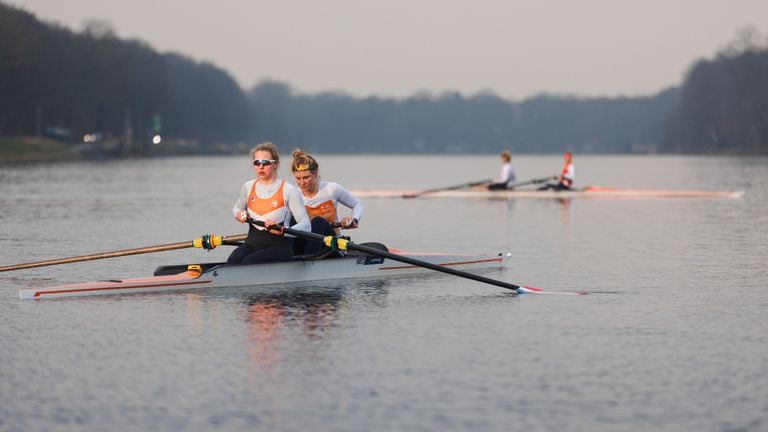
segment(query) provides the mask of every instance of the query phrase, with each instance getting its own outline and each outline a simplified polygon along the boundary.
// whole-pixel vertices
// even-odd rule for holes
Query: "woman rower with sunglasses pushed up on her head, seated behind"
[[[357,228],[363,216],[363,203],[344,186],[320,180],[319,170],[320,165],[314,157],[301,149],[293,151],[291,171],[304,199],[312,232],[329,236],[339,235],[339,228]],[[352,214],[340,219],[339,204],[350,208]],[[318,240],[296,239],[295,246],[297,253],[305,255],[313,255],[323,249],[323,243]]]

